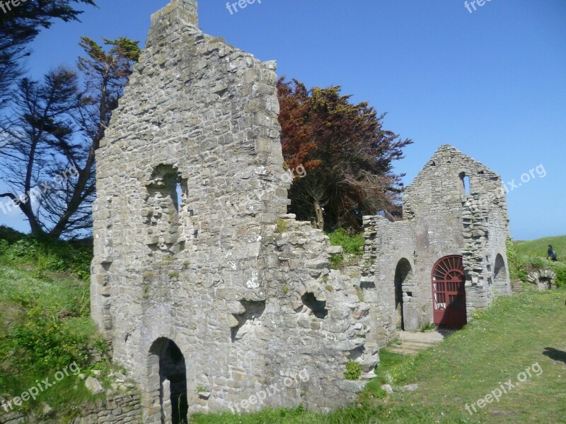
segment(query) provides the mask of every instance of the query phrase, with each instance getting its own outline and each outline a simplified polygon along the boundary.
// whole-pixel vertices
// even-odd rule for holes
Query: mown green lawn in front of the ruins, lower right
[[[498,298],[487,312],[416,356],[380,352],[377,377],[359,402],[329,414],[303,408],[196,415],[197,424],[566,423],[566,290]],[[548,350],[550,348],[550,350]],[[545,352],[551,352],[545,355]],[[466,411],[503,382],[517,382],[534,363],[542,374],[502,394],[499,402]],[[393,386],[386,396],[381,384]],[[416,391],[401,391],[418,384]]]

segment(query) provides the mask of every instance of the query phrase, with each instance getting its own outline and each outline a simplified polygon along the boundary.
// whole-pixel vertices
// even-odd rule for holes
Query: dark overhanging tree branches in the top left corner
[[[0,102],[6,100],[11,84],[21,76],[21,59],[29,54],[26,46],[40,30],[50,28],[55,19],[79,20],[82,12],[75,9],[77,4],[96,6],[93,0],[35,0],[18,6],[6,3],[6,13],[0,13]]]

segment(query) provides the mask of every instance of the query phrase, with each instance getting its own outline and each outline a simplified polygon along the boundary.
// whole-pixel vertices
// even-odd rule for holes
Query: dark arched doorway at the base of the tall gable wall
[[[151,345],[149,355],[150,370],[153,374],[149,376],[149,381],[152,385],[158,384],[154,393],[159,396],[161,423],[186,424],[187,368],[183,353],[175,342],[162,337]]]

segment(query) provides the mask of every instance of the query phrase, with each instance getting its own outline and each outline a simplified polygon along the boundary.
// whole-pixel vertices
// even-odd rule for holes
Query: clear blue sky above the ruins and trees
[[[37,37],[33,78],[74,66],[81,35],[145,42],[151,13],[168,0],[97,3],[81,23]],[[262,0],[232,14],[226,1],[199,6],[205,33],[276,59],[280,76],[339,85],[388,112],[386,129],[415,142],[395,163],[405,184],[449,143],[514,180],[516,240],[566,234],[566,1],[491,0],[473,13],[460,0]],[[545,172],[519,187],[537,166]],[[0,224],[28,229],[18,214],[0,212]]]

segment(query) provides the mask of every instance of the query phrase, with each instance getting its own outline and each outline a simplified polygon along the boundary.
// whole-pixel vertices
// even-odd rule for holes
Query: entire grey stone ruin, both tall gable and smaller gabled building
[[[405,220],[364,217],[359,273],[330,269],[340,247],[287,214],[275,68],[172,0],[97,151],[91,313],[144,423],[346,405],[399,329],[461,326],[509,292],[501,180],[451,146]]]

